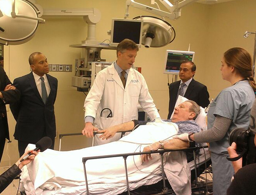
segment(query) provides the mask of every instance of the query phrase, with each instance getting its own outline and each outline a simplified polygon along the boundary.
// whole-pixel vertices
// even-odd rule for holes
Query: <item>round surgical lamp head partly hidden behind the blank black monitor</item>
[[[143,20],[142,44],[146,47],[163,47],[175,39],[175,30],[168,22],[154,16],[137,16]]]

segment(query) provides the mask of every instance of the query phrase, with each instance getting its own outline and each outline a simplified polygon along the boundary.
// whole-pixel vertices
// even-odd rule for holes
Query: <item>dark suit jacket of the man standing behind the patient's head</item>
[[[169,113],[168,119],[170,119],[172,112],[174,111],[174,106],[176,103],[176,97],[179,90],[179,85],[181,81],[173,82],[169,85]],[[210,103],[209,93],[207,87],[202,83],[195,81],[192,78],[192,81],[189,83],[186,93],[184,94],[189,100],[195,101],[199,106],[203,108],[207,107]]]

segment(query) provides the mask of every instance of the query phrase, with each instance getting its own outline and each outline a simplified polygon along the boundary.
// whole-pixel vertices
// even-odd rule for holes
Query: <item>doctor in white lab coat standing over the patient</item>
[[[124,39],[116,48],[116,62],[97,74],[84,102],[85,127],[82,134],[86,137],[93,137],[93,131],[98,129],[138,119],[138,103],[150,120],[160,117],[144,77],[131,68],[138,50],[136,43]],[[95,135],[94,145],[116,141],[119,134],[108,140],[101,140]]]

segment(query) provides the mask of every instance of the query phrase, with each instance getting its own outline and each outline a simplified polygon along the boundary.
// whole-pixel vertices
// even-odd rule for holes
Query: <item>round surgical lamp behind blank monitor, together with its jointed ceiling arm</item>
[[[143,35],[142,44],[146,47],[163,47],[175,39],[175,30],[165,18],[170,20],[176,20],[181,16],[181,7],[196,2],[197,0],[174,0],[171,4],[168,0],[159,0],[168,11],[163,11],[159,8],[143,5],[134,0],[126,0],[126,12],[125,18],[129,17],[129,7],[136,7],[143,11],[157,14],[163,17],[163,20],[153,16],[138,16],[134,19],[143,20]],[[151,4],[157,4],[154,0],[151,0]],[[158,5],[158,4],[157,4]]]

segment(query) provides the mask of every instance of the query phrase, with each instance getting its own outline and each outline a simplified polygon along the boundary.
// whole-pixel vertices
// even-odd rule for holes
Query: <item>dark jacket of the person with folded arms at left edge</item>
[[[4,91],[5,86],[9,84],[12,84],[11,81],[6,75],[4,69],[0,67],[0,92],[3,94],[5,101],[4,102],[2,99],[0,99],[0,112],[4,113],[4,115],[6,116],[4,118],[5,128],[3,129],[3,131],[5,131],[5,138],[7,138],[8,140],[10,140],[10,137],[5,104],[14,103],[20,98],[20,92],[18,89]],[[2,129],[0,129],[0,131],[2,131]]]

